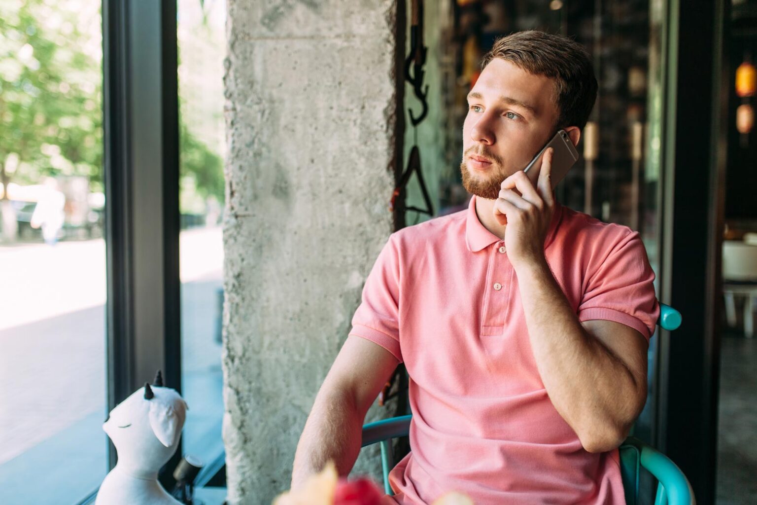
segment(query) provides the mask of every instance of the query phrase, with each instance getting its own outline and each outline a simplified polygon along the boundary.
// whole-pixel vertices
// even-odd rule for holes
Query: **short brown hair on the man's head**
[[[481,69],[493,58],[511,61],[528,73],[553,78],[559,110],[555,127],[584,129],[597,99],[597,78],[583,45],[564,36],[528,30],[497,39],[484,55]]]

